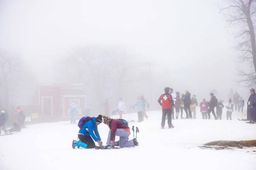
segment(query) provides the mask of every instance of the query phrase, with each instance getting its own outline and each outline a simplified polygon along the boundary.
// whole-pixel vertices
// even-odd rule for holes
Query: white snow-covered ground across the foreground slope
[[[255,140],[256,124],[238,121],[241,113],[233,113],[230,121],[225,114],[224,120],[201,120],[198,112],[197,120],[173,120],[173,129],[160,128],[161,111],[148,115],[144,122],[129,123],[139,127],[139,146],[119,150],[73,149],[78,127],[69,122],[28,126],[20,133],[0,137],[0,170],[256,170],[256,152],[252,152],[256,148],[198,147],[214,140]],[[130,120],[137,120],[137,115],[131,114]],[[105,143],[109,129],[105,124],[98,129]]]

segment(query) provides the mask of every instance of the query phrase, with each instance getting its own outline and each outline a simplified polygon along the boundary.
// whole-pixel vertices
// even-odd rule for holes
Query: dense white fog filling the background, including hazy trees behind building
[[[164,87],[188,89],[200,102],[213,90],[227,102],[233,88],[247,100],[236,81],[237,68],[248,66],[239,65],[219,3],[0,0],[1,52],[21,58],[26,70],[9,100],[31,104],[40,85],[65,83],[85,85],[95,115],[105,99],[115,109],[119,98],[129,107],[142,94],[159,110]]]

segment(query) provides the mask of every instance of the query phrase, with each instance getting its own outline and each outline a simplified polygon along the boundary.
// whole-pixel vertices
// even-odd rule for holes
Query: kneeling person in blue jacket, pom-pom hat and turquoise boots
[[[101,123],[102,115],[92,118],[88,117],[88,120],[85,121],[82,128],[78,132],[79,141],[73,140],[72,148],[75,149],[75,146],[77,146],[77,148],[79,148],[80,146],[87,149],[95,148],[96,145],[94,141],[97,142],[99,145],[102,145],[102,141],[97,127]]]

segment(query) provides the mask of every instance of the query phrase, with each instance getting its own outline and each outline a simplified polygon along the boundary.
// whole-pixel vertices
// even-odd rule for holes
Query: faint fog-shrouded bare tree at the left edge
[[[0,90],[4,107],[9,111],[11,92],[19,89],[26,75],[26,67],[20,57],[0,52]]]

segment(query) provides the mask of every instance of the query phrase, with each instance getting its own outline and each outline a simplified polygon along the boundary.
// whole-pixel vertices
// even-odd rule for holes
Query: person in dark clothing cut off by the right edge
[[[247,102],[247,120],[256,123],[256,94],[255,89],[250,89],[250,97]]]

